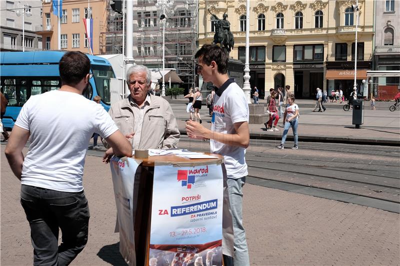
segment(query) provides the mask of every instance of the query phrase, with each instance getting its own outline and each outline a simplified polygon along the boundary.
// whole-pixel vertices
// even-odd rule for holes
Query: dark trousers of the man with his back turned
[[[84,192],[22,185],[21,205],[30,226],[33,265],[69,265],[87,243],[90,214]]]

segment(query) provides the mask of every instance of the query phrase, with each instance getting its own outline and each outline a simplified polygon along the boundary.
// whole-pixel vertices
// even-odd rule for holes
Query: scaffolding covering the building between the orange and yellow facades
[[[106,32],[102,32],[100,48],[105,54],[122,53],[122,15],[110,8],[109,1]],[[156,0],[133,1],[133,57],[137,64],[161,69],[163,22],[155,3]],[[175,0],[173,15],[165,22],[165,68],[176,69],[183,81],[179,86],[186,89],[196,83],[196,39],[196,1]]]

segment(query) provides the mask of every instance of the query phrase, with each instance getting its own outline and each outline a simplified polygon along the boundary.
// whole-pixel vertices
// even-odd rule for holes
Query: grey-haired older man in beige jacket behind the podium
[[[133,149],[177,148],[179,130],[169,103],[148,92],[151,71],[144,65],[126,72],[130,95],[114,104],[108,114],[132,144]]]

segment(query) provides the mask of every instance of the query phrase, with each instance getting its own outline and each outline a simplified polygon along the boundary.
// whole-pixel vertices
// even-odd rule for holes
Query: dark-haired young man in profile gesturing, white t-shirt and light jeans
[[[223,155],[233,219],[233,265],[248,266],[248,249],[242,224],[242,187],[247,176],[245,152],[249,144],[248,104],[243,90],[227,74],[228,56],[217,45],[203,45],[194,55],[204,82],[218,88],[214,97],[211,130],[186,122],[189,137],[209,139],[212,153]]]

